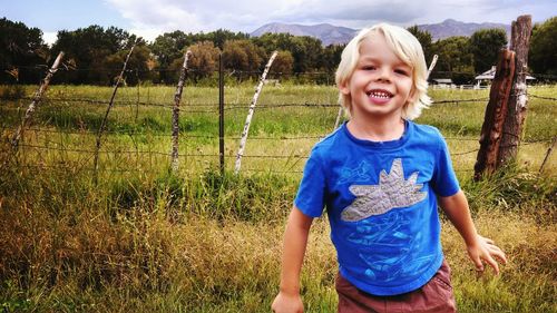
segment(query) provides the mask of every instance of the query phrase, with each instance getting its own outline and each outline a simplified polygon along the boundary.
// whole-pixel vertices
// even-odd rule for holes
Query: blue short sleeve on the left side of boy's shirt
[[[294,205],[305,215],[319,217],[325,206],[325,172],[315,149],[305,163],[304,175]]]

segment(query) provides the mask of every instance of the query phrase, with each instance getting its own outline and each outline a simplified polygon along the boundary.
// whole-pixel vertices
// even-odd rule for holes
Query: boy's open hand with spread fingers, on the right
[[[498,258],[502,264],[507,264],[505,253],[496,246],[494,241],[490,238],[478,235],[476,243],[473,245],[468,245],[467,250],[468,255],[472,260],[473,264],[476,264],[476,271],[479,273],[482,273],[485,270],[482,261],[486,261],[487,264],[494,267],[496,275],[499,275],[499,265],[494,257]]]

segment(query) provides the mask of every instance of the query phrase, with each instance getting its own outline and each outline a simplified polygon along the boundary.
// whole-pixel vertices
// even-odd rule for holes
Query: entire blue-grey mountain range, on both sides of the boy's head
[[[440,23],[419,25],[420,30],[427,30],[431,33],[433,41],[444,39],[451,36],[470,37],[473,32],[480,29],[501,28],[507,32],[507,40],[510,40],[510,26],[504,23],[475,23],[461,22],[453,19],[447,19]],[[294,36],[311,36],[321,39],[323,46],[331,43],[346,43],[356,35],[359,30],[348,27],[338,27],[329,23],[320,23],[312,26],[292,25],[292,23],[267,23],[250,33],[252,37],[262,36],[265,32],[272,33],[291,33]]]

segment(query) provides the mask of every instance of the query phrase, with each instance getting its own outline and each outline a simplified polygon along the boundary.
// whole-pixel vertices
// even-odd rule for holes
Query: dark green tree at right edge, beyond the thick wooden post
[[[531,32],[530,50],[528,52],[528,66],[536,74],[557,75],[556,47],[557,17],[553,17],[544,23],[535,25]]]

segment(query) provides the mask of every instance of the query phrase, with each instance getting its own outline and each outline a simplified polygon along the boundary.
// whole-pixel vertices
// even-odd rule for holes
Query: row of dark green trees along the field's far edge
[[[429,62],[439,56],[431,78],[451,78],[455,84],[470,84],[473,77],[496,63],[499,50],[508,43],[505,30],[483,29],[471,37],[449,37],[437,41],[431,33],[410,27],[421,42]],[[534,26],[528,66],[541,79],[557,76],[557,17]],[[192,51],[188,79],[211,84],[217,76],[218,59],[227,79],[258,77],[272,51],[278,56],[271,78],[300,82],[332,84],[344,45],[324,47],[321,40],[306,36],[265,33],[251,37],[244,32],[219,29],[212,32],[185,33],[180,30],[158,36],[153,42],[126,30],[89,26],[58,31],[49,47],[42,31],[22,22],[0,19],[0,84],[37,84],[59,51],[66,57],[55,84],[109,86],[121,70],[130,47],[136,48],[128,61],[126,84],[176,84],[186,49]]]

